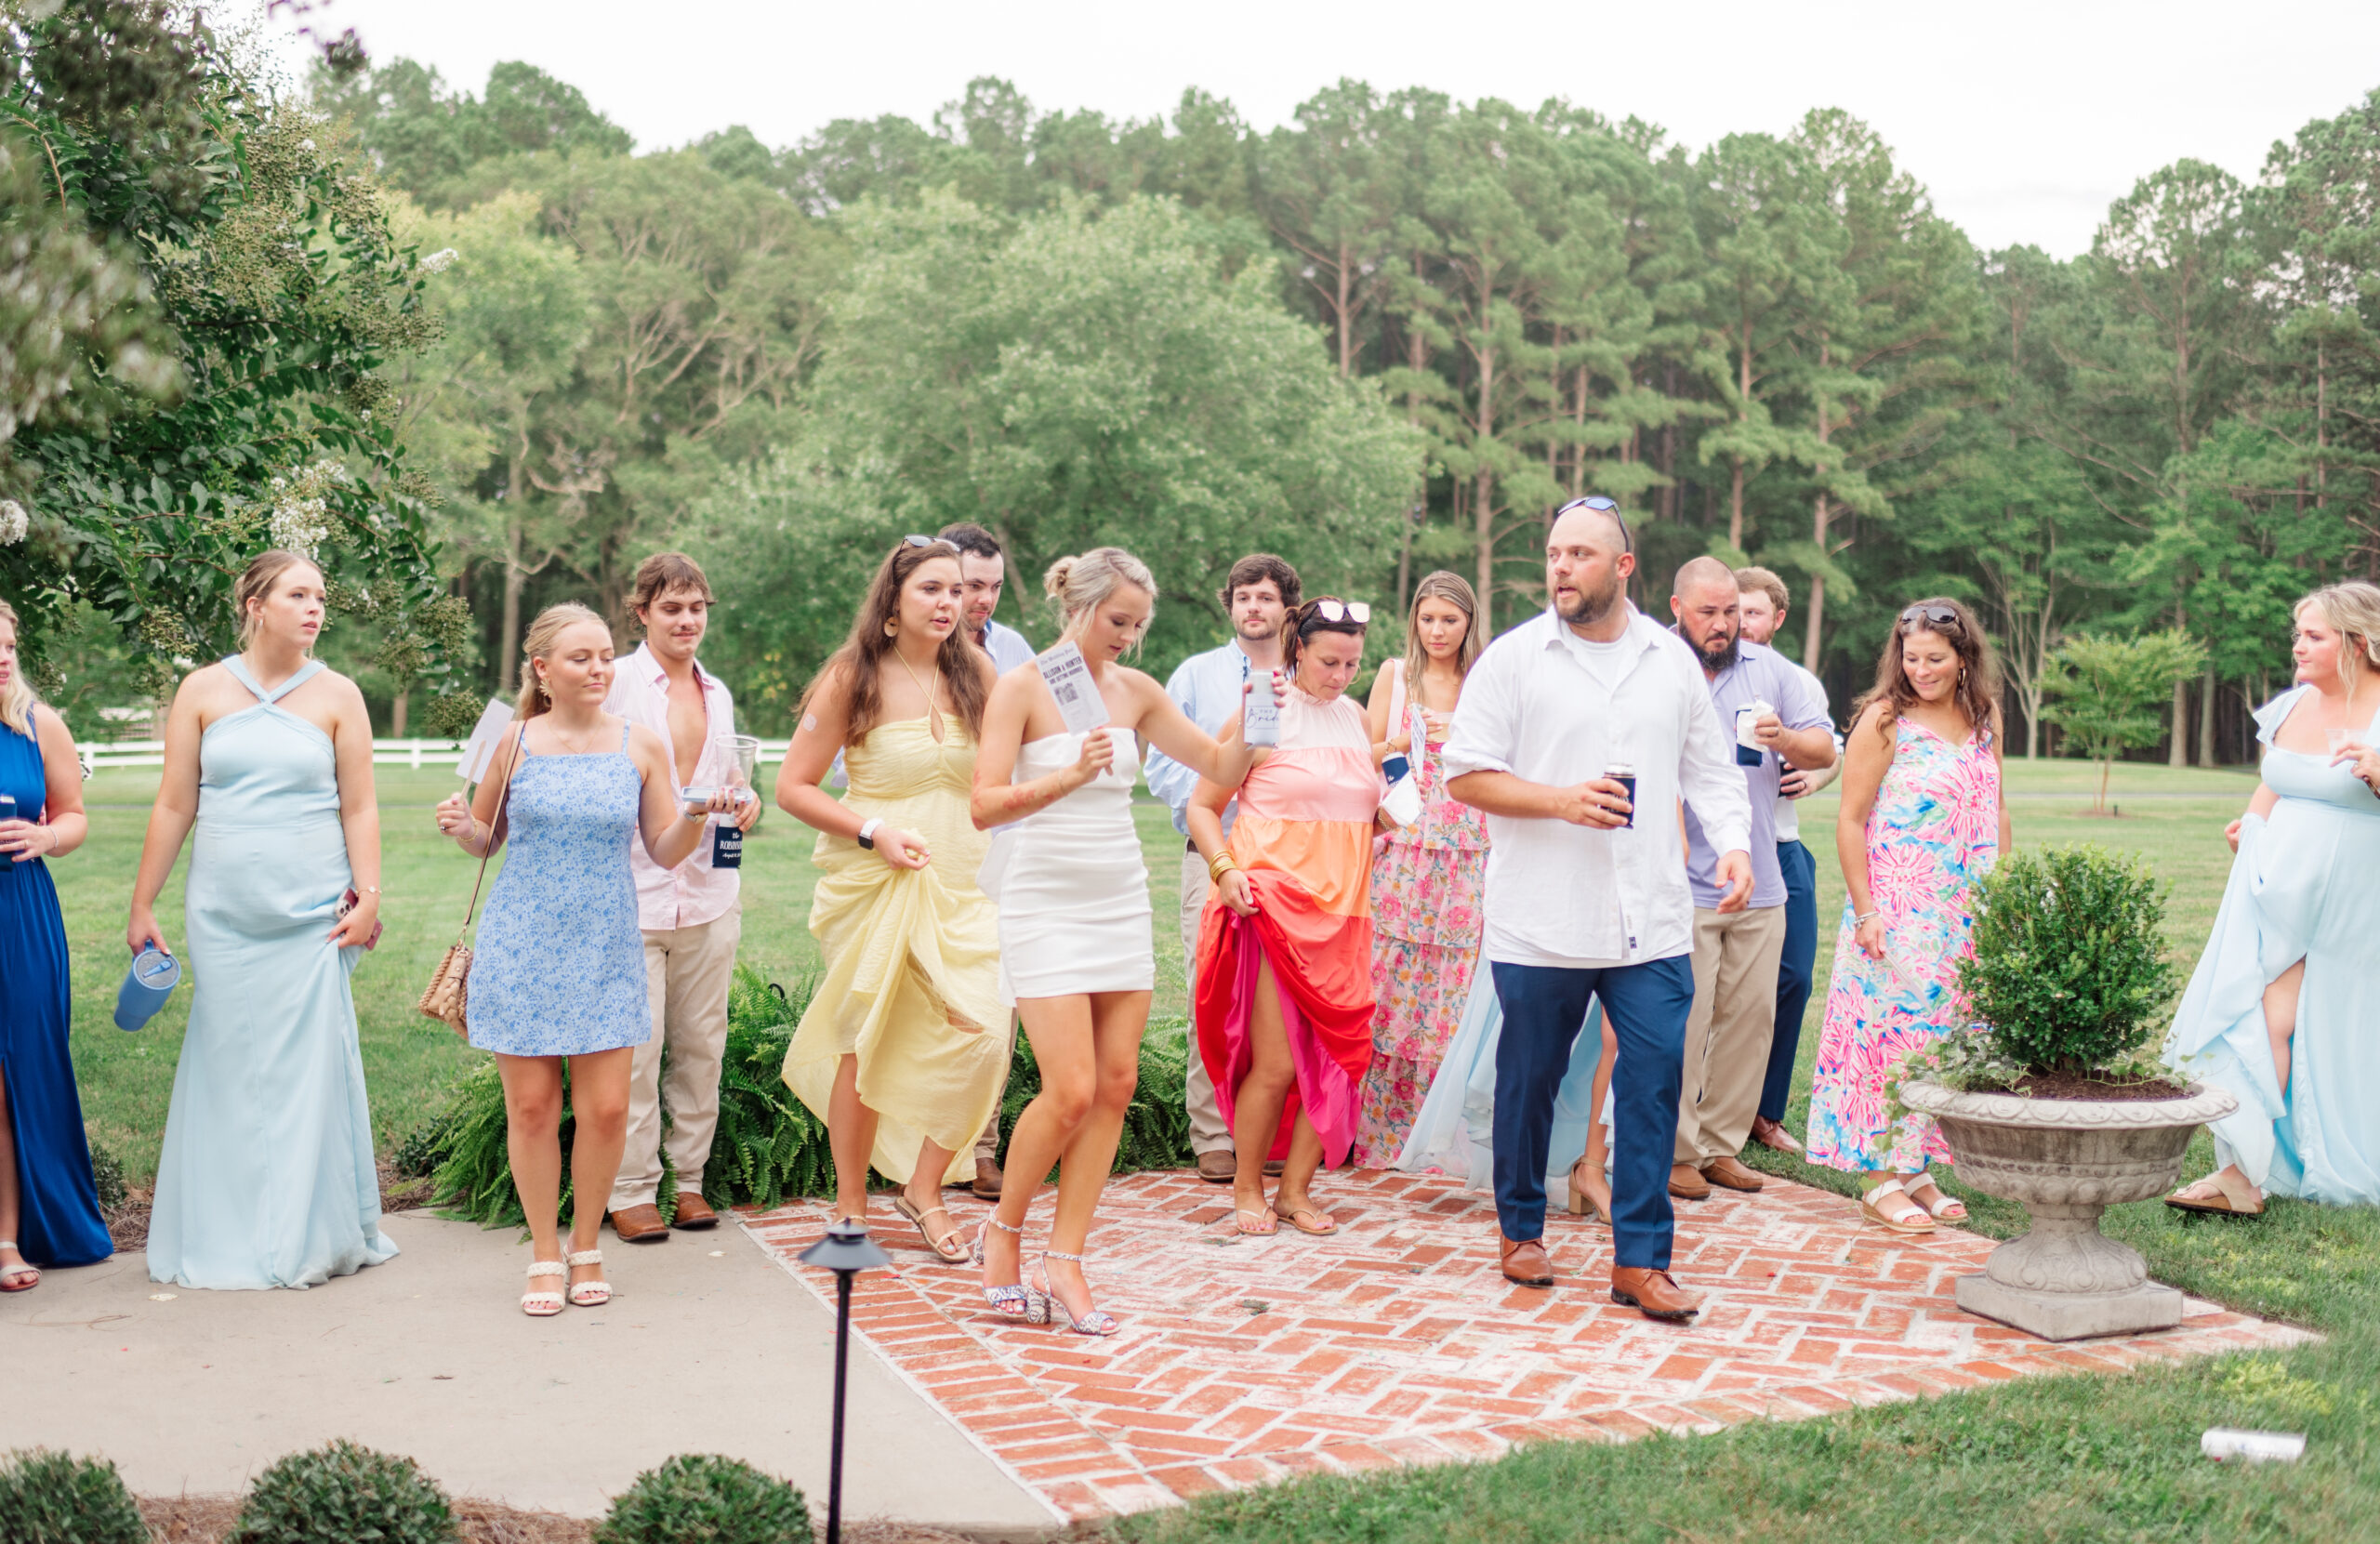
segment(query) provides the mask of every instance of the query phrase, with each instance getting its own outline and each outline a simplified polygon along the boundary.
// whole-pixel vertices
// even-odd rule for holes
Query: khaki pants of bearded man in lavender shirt
[[[1785,906],[1695,906],[1695,1011],[1678,1085],[1678,1163],[1733,1159],[1752,1137],[1778,1016]]]

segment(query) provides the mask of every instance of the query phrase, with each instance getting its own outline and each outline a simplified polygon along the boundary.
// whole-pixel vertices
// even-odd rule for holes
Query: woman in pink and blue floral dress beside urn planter
[[[1925,1173],[1949,1159],[1942,1132],[1928,1116],[1890,1121],[1885,1082],[1966,1028],[1968,890],[2009,840],[1992,645],[1964,604],[1921,600],[1892,623],[1844,735],[1835,849],[1849,899],[1809,1092],[1809,1161],[1864,1175],[1859,1209],[1894,1232],[1966,1218]]]

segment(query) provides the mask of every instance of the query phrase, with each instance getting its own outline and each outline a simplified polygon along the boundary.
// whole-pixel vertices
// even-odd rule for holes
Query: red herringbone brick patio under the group
[[[1602,1228],[1557,1213],[1559,1285],[1495,1268],[1495,1211],[1454,1180],[1323,1175],[1330,1239],[1230,1230],[1230,1192],[1188,1173],[1123,1175],[1090,1239],[1114,1339],[1012,1325],[973,1268],[938,1266],[897,1218],[895,1270],[859,1278],[852,1323],[904,1377],[1069,1518],[1166,1506],[1309,1470],[1490,1458],[1535,1439],[1716,1432],[1916,1399],[2033,1373],[2111,1373],[2306,1332],[2190,1301],[2180,1330],[2054,1347],[1961,1313],[1952,1282],[1992,1239],[1904,1239],[1804,1185],[1678,1204],[1676,1273],[1706,1294],[1692,1325],[1606,1297]],[[983,1204],[950,1192],[973,1232]],[[890,1209],[878,1204],[881,1213]],[[1047,1228],[1035,1204],[1028,1249]],[[826,1225],[800,1204],[745,1228],[793,1266]]]

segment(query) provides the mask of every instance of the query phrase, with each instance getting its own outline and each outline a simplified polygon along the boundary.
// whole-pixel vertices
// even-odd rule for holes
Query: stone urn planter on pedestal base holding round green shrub
[[[2033,1228],[1959,1278],[1959,1306],[2040,1335],[2082,1339],[2171,1330],[2182,1294],[2149,1280],[2130,1244],[2099,1232],[2116,1201],[2147,1201],[2182,1178],[2182,1151],[2206,1121],[2240,1109],[2192,1082],[2180,1099],[2028,1099],[1966,1094],[1937,1082],[1902,1087],[1902,1104],[1933,1116],[1966,1185],[2023,1201]]]

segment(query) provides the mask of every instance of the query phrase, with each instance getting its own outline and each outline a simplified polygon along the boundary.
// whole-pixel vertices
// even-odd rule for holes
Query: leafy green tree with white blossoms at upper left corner
[[[0,0],[0,595],[43,654],[112,619],[162,690],[228,645],[231,580],[314,554],[400,680],[469,614],[378,366],[419,266],[328,126],[169,0]]]

